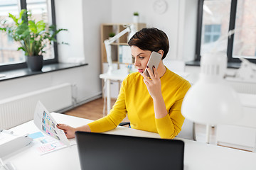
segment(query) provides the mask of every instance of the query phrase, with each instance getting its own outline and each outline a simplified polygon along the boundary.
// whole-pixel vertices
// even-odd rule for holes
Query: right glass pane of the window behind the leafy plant
[[[48,25],[52,24],[48,0],[26,0],[26,3],[28,11],[31,11],[36,22],[43,20]],[[44,50],[46,53],[43,53],[43,60],[54,58],[53,45],[47,45]]]

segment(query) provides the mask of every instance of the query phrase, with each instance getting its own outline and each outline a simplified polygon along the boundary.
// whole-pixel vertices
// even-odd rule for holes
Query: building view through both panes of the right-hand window
[[[205,0],[201,55],[227,52],[231,0]],[[235,18],[233,57],[256,58],[256,1],[238,0]]]

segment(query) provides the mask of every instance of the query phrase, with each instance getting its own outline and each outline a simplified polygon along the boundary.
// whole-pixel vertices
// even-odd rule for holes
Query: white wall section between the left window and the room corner
[[[55,1],[55,16],[58,28],[68,29],[68,31],[57,35],[58,42],[68,42],[69,44],[58,45],[59,61],[68,62],[70,58],[85,59],[82,1]]]

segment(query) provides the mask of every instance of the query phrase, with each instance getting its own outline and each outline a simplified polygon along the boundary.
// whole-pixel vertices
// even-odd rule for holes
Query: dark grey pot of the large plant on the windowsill
[[[28,69],[32,72],[41,71],[43,68],[43,55],[26,56],[26,63],[28,65]]]

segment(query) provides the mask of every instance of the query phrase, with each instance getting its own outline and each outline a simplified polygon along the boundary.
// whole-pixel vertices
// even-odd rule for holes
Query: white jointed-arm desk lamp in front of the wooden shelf
[[[107,63],[108,63],[108,70],[107,73],[110,74],[113,70],[112,65],[112,58],[111,58],[111,43],[117,40],[118,38],[122,37],[125,33],[129,33],[128,39],[132,38],[132,36],[137,32],[136,27],[132,24],[130,26],[127,26],[124,30],[122,30],[120,33],[115,35],[113,38],[107,39],[104,41],[106,53],[107,53]]]

